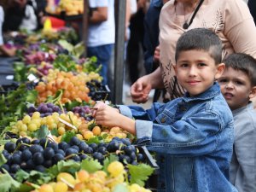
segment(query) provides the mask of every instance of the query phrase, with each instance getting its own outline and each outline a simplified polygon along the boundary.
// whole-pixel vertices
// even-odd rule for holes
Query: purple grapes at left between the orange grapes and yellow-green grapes
[[[38,111],[40,113],[40,116],[43,117],[47,117],[49,115],[51,115],[52,113],[62,113],[61,112],[61,108],[59,106],[54,105],[53,103],[49,102],[49,103],[44,103],[41,102],[38,106],[38,108],[35,107],[30,107],[27,109],[27,113],[29,114],[29,116],[32,117],[32,114],[34,112]]]

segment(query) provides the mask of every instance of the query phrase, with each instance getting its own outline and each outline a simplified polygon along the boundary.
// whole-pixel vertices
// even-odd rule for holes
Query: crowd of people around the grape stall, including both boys
[[[41,4],[39,4],[40,2]],[[36,30],[43,1],[12,0],[0,7],[2,32]],[[115,1],[89,0],[88,56],[113,81]],[[154,151],[158,191],[256,191],[256,4],[253,0],[127,0],[125,39],[133,102],[163,100],[147,110],[98,102],[99,125],[119,126]],[[17,15],[12,15],[17,13]],[[10,20],[14,20],[12,22]],[[141,48],[140,48],[141,46]],[[146,75],[140,76],[143,50]],[[157,101],[158,97],[154,100]]]

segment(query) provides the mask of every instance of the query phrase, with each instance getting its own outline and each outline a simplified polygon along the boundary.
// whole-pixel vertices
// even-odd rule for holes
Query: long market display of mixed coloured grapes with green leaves
[[[151,191],[145,183],[157,166],[148,151],[92,116],[110,94],[96,57],[57,33],[16,37],[15,84],[0,93],[0,191]]]

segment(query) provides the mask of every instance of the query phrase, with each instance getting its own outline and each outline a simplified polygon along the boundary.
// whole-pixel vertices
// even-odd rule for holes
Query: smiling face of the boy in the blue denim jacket
[[[212,56],[204,50],[181,51],[174,66],[177,80],[190,96],[209,89],[224,71],[224,63],[215,64]]]

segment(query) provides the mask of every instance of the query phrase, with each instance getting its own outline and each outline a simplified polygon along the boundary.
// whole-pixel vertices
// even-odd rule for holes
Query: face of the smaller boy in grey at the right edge
[[[247,106],[250,98],[254,96],[255,88],[252,87],[247,74],[241,70],[226,68],[218,83],[231,110]]]

